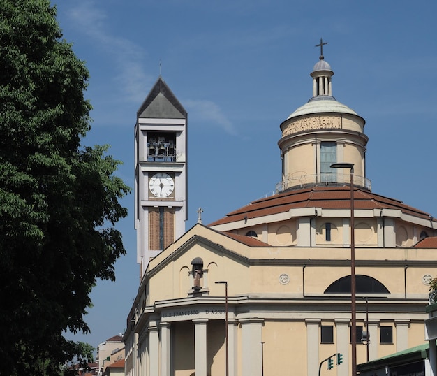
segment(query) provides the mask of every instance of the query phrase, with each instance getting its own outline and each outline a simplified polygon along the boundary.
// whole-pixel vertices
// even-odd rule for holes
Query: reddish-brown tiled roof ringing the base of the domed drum
[[[432,218],[427,212],[422,212],[422,210],[405,205],[402,201],[380,196],[359,187],[355,187],[354,190],[354,205],[355,210],[394,209],[423,219]],[[350,208],[350,187],[316,186],[285,191],[252,201],[249,205],[230,212],[226,217],[212,222],[209,226],[265,217],[297,208],[348,209]],[[433,220],[437,222],[435,219]]]

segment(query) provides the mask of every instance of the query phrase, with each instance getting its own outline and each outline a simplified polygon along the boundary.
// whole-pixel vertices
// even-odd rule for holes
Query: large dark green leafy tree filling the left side
[[[89,361],[66,330],[125,254],[129,191],[108,147],[82,147],[89,73],[49,0],[0,0],[0,375],[59,375]]]

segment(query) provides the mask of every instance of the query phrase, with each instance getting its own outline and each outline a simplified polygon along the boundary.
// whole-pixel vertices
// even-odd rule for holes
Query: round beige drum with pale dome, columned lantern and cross
[[[330,167],[341,162],[355,165],[355,185],[371,189],[365,177],[365,120],[332,96],[334,71],[323,56],[325,44],[316,45],[320,57],[310,74],[313,96],[281,124],[282,181],[276,191],[348,182],[349,171]]]

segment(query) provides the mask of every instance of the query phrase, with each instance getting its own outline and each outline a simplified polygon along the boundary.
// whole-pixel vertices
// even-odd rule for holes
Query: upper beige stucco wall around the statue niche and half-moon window
[[[341,238],[341,236],[339,236]],[[227,243],[226,240],[225,243]],[[243,249],[240,243],[234,242],[234,246]],[[246,256],[250,259],[301,259],[299,265],[260,265],[250,266],[243,259],[232,257],[232,253],[218,252],[207,245],[194,245],[190,250],[182,254],[178,259],[169,263],[163,263],[160,273],[154,274],[149,282],[150,302],[157,300],[186,297],[190,291],[192,278],[189,275],[191,261],[195,257],[202,257],[207,268],[207,278],[202,279],[203,285],[209,289],[209,294],[221,295],[223,288],[214,284],[216,280],[227,280],[232,294],[248,294],[250,292],[272,293],[297,293],[303,290],[302,275],[304,275],[306,294],[323,294],[326,287],[340,277],[350,275],[350,267],[336,266],[335,268],[323,263],[317,265],[306,264],[306,259],[350,259],[348,247],[306,248],[306,247],[260,247],[246,250]],[[207,258],[205,257],[207,254]],[[355,247],[357,262],[356,273],[369,275],[376,278],[387,287],[392,294],[405,294],[404,273],[408,261],[429,258],[429,250],[420,249],[385,249]],[[378,261],[374,267],[360,266],[361,262],[371,260]],[[390,261],[386,261],[390,260]],[[398,263],[395,263],[397,261]],[[400,262],[400,263],[399,263]],[[302,266],[306,265],[304,271]],[[290,276],[290,282],[284,287],[278,283],[279,277],[286,273]],[[422,284],[422,276],[437,275],[437,268],[431,265],[420,267],[408,267],[408,291],[407,294],[427,294],[427,286]]]

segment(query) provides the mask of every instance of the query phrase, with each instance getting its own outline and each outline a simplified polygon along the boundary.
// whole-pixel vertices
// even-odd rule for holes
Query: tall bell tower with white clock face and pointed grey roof
[[[135,230],[140,277],[149,260],[185,232],[187,120],[161,77],[135,124]]]

